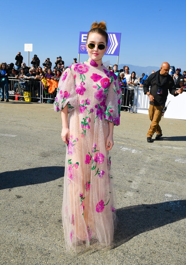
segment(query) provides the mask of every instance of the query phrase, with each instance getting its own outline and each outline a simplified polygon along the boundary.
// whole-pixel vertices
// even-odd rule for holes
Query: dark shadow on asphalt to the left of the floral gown
[[[49,182],[64,176],[65,167],[46,166],[0,173],[0,189]]]

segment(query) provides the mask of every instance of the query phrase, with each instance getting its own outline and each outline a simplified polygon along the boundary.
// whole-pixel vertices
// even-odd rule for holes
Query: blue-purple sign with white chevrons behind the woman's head
[[[78,53],[87,54],[87,33],[85,31],[81,31],[79,34],[79,51]],[[119,56],[119,47],[120,47],[120,40],[121,40],[121,33],[108,33],[108,48],[105,52],[105,55],[115,55]]]

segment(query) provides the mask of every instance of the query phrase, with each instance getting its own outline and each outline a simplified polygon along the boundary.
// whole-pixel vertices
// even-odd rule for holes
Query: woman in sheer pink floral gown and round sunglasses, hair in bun
[[[89,59],[65,70],[54,103],[67,144],[62,204],[67,251],[96,242],[109,246],[114,235],[116,201],[108,152],[114,124],[119,125],[122,93],[117,76],[102,64],[107,43],[105,22],[94,22],[87,35]]]

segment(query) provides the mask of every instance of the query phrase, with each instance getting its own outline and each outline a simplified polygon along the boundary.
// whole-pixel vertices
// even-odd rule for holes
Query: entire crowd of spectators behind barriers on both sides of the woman
[[[53,98],[56,96],[57,91],[57,85],[60,79],[61,74],[65,71],[65,69],[68,67],[65,67],[65,62],[62,60],[61,56],[56,57],[56,61],[54,62],[54,67],[52,69],[52,62],[50,61],[50,58],[44,60],[42,63],[43,68],[40,66],[40,59],[35,54],[34,57],[31,60],[31,67],[26,66],[25,62],[23,62],[23,57],[21,55],[21,52],[18,52],[15,56],[15,64],[10,63],[6,64],[1,63],[0,64],[0,71],[1,71],[1,78],[0,78],[0,84],[1,84],[1,101],[5,100],[4,91],[6,94],[6,102],[9,101],[9,91],[14,90],[15,93],[18,92],[17,87],[14,87],[10,84],[8,78],[15,78],[18,80],[22,80],[20,83],[24,83],[23,80],[27,80],[28,83],[25,82],[25,88],[30,89],[32,88],[32,97],[35,98],[35,100],[39,99],[37,102],[40,102],[41,100],[41,91],[40,86],[38,82],[35,82],[36,80],[41,81],[42,88],[44,90],[45,94],[45,100],[44,103],[52,103],[52,100],[48,100],[49,94],[53,94]],[[74,61],[72,64],[77,63],[77,58],[74,57]],[[123,98],[122,98],[122,108],[121,110],[125,110],[130,112],[130,109],[133,106],[133,97],[134,97],[134,89],[135,86],[140,85],[140,87],[143,87],[144,81],[148,77],[147,74],[142,73],[141,77],[136,77],[136,73],[133,71],[131,74],[129,72],[129,67],[124,65],[123,69],[118,70],[118,65],[114,64],[113,66],[107,66],[107,68],[114,72],[115,75],[119,78],[119,81],[121,82],[122,91],[123,91]],[[155,71],[152,71],[154,73]],[[183,74],[181,74],[181,69],[178,67],[176,69],[176,73],[174,73],[173,69],[170,69],[169,74],[173,77],[176,88],[180,88],[184,85],[186,85],[186,71],[183,71]],[[23,85],[22,85],[23,87]],[[50,89],[52,87],[52,89]],[[50,97],[51,98],[51,97]],[[20,100],[23,100],[23,97],[19,97]]]

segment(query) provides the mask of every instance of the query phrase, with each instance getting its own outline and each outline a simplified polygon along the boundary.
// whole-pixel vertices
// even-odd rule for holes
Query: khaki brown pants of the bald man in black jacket
[[[162,109],[164,106],[153,106],[149,105],[149,119],[152,121],[151,126],[149,128],[149,131],[147,133],[147,137],[152,137],[153,134],[156,132],[156,134],[161,134],[162,130],[159,125],[159,122],[162,117]]]

